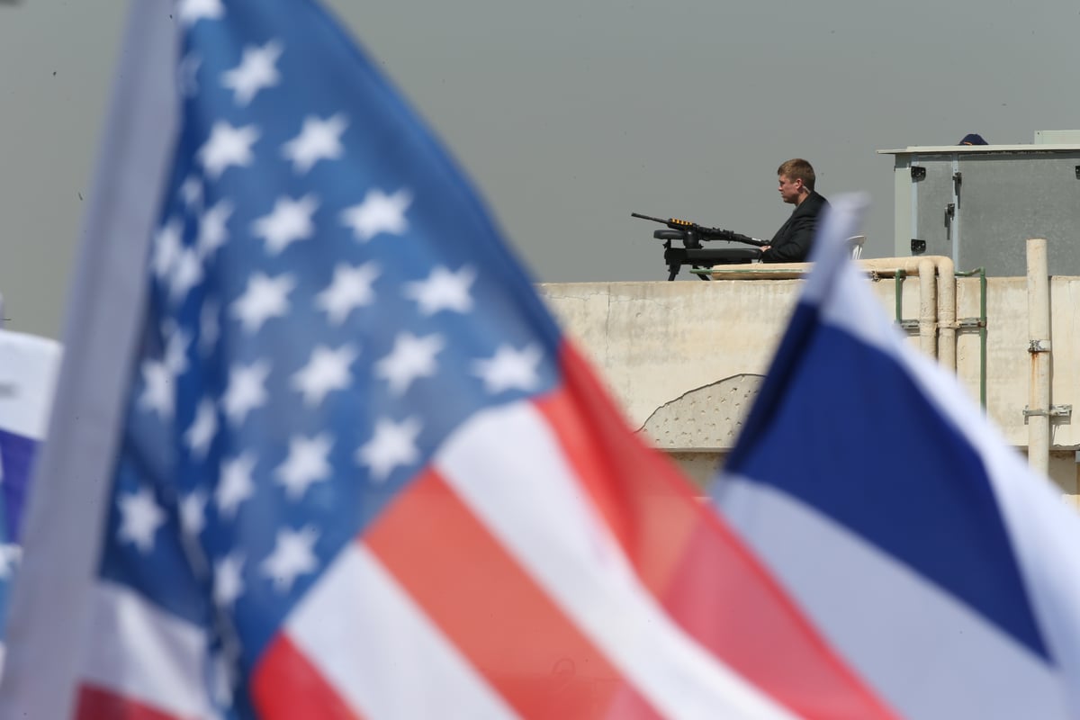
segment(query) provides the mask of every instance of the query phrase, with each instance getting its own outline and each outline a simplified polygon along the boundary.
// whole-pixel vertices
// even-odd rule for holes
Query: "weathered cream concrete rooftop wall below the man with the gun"
[[[766,373],[801,280],[544,284],[539,289],[569,336],[599,368],[634,427],[704,481],[733,446],[757,384]],[[893,279],[872,281],[890,318]],[[918,279],[900,285],[902,317],[915,320]],[[957,318],[980,315],[977,277],[958,279]],[[1027,446],[1029,354],[1027,281],[987,281],[987,408],[1007,441]],[[1051,402],[1080,410],[1080,277],[1051,281]],[[907,330],[918,348],[917,330]],[[957,376],[980,396],[977,327],[959,328]],[[888,408],[881,408],[882,413]],[[1051,475],[1077,494],[1080,427],[1052,422]]]

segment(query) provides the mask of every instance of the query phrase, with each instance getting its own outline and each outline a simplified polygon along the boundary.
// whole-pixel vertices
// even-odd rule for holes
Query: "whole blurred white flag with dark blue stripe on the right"
[[[912,718],[1080,717],[1080,519],[912,351],[839,239],[715,499],[826,640]]]

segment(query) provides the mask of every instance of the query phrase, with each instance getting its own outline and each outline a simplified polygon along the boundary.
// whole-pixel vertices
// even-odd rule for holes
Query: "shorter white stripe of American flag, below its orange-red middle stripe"
[[[365,717],[516,717],[362,544],[338,555],[286,633]]]

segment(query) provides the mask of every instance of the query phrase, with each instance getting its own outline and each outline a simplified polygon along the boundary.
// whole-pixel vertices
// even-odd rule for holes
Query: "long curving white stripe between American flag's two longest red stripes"
[[[661,715],[791,717],[698,646],[657,604],[562,452],[540,412],[516,403],[465,422],[435,465]]]

